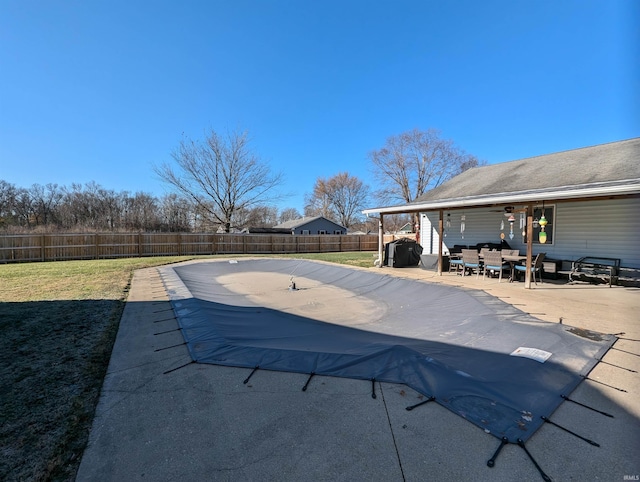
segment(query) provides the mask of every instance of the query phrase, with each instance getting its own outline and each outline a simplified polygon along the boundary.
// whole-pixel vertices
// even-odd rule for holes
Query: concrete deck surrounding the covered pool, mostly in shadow
[[[553,480],[638,480],[640,290],[380,272],[483,289],[543,320],[624,332],[571,394],[614,417],[565,402],[552,418],[600,447],[545,424],[527,450]],[[373,399],[359,380],[315,377],[303,392],[305,375],[258,371],[244,384],[250,370],[188,364],[176,328],[157,270],[137,271],[78,481],[542,480],[513,444],[488,468],[495,437],[435,403],[405,410],[421,396],[403,385],[376,383]]]

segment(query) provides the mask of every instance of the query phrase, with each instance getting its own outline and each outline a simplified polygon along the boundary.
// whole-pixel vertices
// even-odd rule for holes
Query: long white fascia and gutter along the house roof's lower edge
[[[549,189],[534,189],[508,193],[483,194],[479,196],[438,199],[397,206],[365,209],[363,214],[402,214],[440,209],[464,209],[472,207],[537,203],[542,201],[571,201],[587,198],[624,197],[640,194],[640,179],[602,182],[579,186],[563,186]]]

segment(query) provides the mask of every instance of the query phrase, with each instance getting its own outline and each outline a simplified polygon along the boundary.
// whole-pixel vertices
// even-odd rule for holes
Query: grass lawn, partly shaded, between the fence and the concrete
[[[282,257],[372,267],[376,254]],[[133,271],[186,259],[0,265],[0,480],[75,478]]]

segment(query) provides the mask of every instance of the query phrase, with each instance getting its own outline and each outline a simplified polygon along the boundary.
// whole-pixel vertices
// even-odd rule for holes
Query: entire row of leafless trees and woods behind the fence
[[[377,231],[377,222],[361,215],[372,203],[410,203],[483,164],[434,129],[391,136],[368,157],[376,190],[346,171],[319,177],[305,196],[304,215],[324,216],[351,231]],[[278,209],[283,176],[253,151],[246,132],[212,130],[204,139],[185,138],[171,158],[153,166],[173,191],[162,197],[93,181],[27,188],[0,180],[0,230],[232,232],[302,217],[295,208]],[[393,230],[408,220],[385,217],[385,224]]]

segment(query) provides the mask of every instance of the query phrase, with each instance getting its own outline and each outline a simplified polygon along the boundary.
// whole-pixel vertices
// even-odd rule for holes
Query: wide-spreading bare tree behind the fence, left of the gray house
[[[204,141],[185,139],[171,154],[177,164],[155,167],[156,174],[192,200],[229,232],[234,214],[279,199],[282,174],[273,174],[249,146],[246,132],[221,136],[211,130]]]

